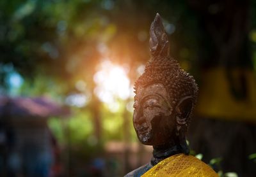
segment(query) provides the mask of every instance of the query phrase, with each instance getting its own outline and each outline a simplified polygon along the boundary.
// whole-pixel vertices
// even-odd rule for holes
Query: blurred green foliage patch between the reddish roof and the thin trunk
[[[51,118],[48,125],[59,145],[74,159],[88,159],[102,150],[93,135],[92,114],[88,110],[73,110],[69,118]]]

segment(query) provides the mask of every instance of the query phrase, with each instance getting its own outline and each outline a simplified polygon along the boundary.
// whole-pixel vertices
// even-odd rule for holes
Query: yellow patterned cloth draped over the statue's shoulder
[[[196,157],[192,155],[185,155],[184,153],[179,153],[162,160],[156,164],[156,166],[152,167],[152,169],[144,173],[141,177],[150,176],[218,177],[218,174],[211,167]]]

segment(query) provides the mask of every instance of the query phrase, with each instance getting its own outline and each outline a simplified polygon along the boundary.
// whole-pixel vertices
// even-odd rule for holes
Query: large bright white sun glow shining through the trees
[[[99,71],[93,77],[97,84],[94,92],[100,101],[113,104],[109,105],[109,110],[113,108],[115,111],[118,107],[117,104],[114,105],[116,99],[131,97],[131,85],[126,70],[106,60],[100,64]]]

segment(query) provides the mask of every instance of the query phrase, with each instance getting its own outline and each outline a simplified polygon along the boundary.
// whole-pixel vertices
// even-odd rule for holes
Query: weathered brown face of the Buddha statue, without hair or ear
[[[133,125],[144,145],[164,145],[175,134],[175,116],[161,83],[139,87],[134,97]]]

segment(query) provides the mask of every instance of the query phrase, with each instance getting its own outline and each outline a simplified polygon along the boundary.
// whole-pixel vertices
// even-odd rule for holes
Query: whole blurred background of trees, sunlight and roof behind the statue
[[[149,161],[134,81],[163,18],[195,76],[191,154],[256,176],[256,1],[0,1],[0,176],[124,176]]]

